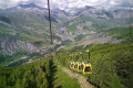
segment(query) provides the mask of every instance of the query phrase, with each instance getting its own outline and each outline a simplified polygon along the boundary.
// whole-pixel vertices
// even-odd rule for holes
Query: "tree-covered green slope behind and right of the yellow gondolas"
[[[73,51],[61,51],[57,53],[57,59],[69,68],[71,61],[69,55],[83,52],[83,62],[88,62],[86,50],[91,52],[92,74],[86,75],[89,81],[101,88],[131,88],[133,81],[133,44],[103,44],[94,47],[86,47]],[[75,58],[75,57],[74,57]],[[75,59],[74,59],[75,61]],[[85,76],[85,77],[86,77]]]

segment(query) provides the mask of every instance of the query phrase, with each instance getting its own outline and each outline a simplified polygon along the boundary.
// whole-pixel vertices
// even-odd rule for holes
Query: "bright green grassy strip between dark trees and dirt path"
[[[81,88],[78,79],[70,77],[61,69],[62,66],[58,63],[57,58],[53,58],[53,66],[57,66],[57,72],[54,73],[54,78],[57,79],[53,81],[53,88]]]

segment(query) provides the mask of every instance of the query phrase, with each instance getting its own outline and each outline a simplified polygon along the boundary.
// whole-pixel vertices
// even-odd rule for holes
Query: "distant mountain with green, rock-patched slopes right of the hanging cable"
[[[65,22],[63,28],[74,35],[93,34],[114,28],[129,26],[132,24],[132,10],[106,11],[86,6],[75,11],[75,18]]]

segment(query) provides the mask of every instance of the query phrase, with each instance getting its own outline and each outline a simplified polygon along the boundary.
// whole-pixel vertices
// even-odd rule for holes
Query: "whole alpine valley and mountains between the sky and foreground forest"
[[[131,37],[130,32],[133,32],[132,19],[133,10],[129,9],[106,11],[89,6],[68,11],[51,9],[52,47],[59,51],[89,44],[125,42]],[[125,29],[129,31],[124,32]],[[130,40],[131,42],[133,41]],[[49,52],[51,46],[47,8],[30,3],[0,9],[0,66],[10,66],[22,58],[25,62],[34,61],[29,57],[30,54],[44,55]]]

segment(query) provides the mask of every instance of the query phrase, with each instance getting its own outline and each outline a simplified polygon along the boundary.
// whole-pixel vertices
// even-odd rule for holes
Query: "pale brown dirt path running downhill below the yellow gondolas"
[[[76,78],[81,85],[81,88],[92,88],[92,86],[86,81],[86,78],[84,78],[83,76],[76,73],[72,73],[71,70],[66,68],[62,68],[62,70],[69,74],[71,77]]]

